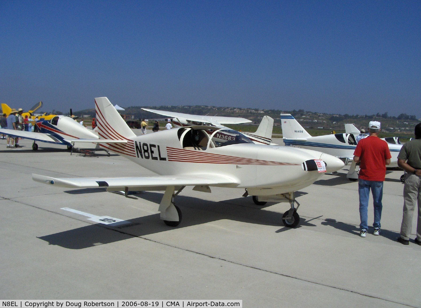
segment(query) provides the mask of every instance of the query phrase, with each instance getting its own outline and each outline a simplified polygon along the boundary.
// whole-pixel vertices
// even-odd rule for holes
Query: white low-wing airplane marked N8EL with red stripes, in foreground
[[[185,186],[210,192],[210,186],[245,189],[256,204],[289,202],[283,223],[299,222],[294,191],[309,186],[325,172],[341,169],[344,163],[331,155],[285,146],[259,145],[229,128],[189,126],[136,136],[108,98],[95,99],[96,121],[109,151],[147,168],[157,176],[123,178],[51,178],[33,174],[35,181],[70,188],[106,187],[108,191],[165,190],[160,217],[177,226],[181,211],[173,199]],[[299,204],[298,204],[299,205]]]

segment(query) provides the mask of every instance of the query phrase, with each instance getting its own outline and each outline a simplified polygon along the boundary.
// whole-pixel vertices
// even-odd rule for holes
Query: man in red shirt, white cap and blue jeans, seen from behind
[[[354,162],[360,163],[358,175],[358,194],[360,196],[360,236],[367,234],[368,197],[373,194],[374,206],[374,235],[380,234],[381,198],[383,196],[383,182],[386,175],[386,165],[390,164],[390,151],[386,141],[378,138],[380,122],[370,121],[368,124],[370,135],[358,142],[354,151]]]

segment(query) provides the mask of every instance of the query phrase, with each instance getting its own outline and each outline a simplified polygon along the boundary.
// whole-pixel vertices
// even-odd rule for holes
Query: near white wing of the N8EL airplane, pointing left
[[[232,178],[213,174],[197,175],[158,175],[142,178],[51,178],[32,174],[32,180],[44,184],[69,188],[98,187],[153,187],[153,186],[190,186],[190,185],[228,185],[237,184]]]

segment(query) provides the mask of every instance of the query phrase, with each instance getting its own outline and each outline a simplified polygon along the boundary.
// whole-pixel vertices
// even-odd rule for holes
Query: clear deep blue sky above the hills
[[[0,1],[0,101],[421,117],[420,1]]]

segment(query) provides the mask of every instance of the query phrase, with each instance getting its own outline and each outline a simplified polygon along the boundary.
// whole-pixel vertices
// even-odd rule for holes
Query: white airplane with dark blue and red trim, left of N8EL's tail
[[[33,140],[32,149],[34,151],[38,149],[37,141],[62,144],[67,146],[67,149],[72,149],[75,142],[88,142],[92,143],[94,148],[100,149],[97,145],[99,142],[98,135],[80,125],[71,117],[58,115],[49,120],[40,120],[35,125],[38,132],[0,129],[0,133]],[[121,141],[109,140],[109,142]]]

